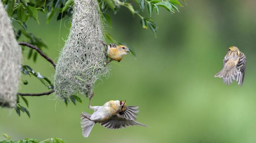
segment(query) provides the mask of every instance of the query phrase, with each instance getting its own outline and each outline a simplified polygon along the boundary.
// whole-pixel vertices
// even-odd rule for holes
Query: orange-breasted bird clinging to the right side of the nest
[[[107,46],[107,56],[110,58],[108,63],[113,60],[120,62],[124,55],[126,55],[128,52],[130,52],[130,50],[125,45],[117,46],[115,44],[109,44]]]

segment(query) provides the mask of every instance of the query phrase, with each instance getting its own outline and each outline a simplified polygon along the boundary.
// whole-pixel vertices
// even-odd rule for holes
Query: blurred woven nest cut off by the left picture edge
[[[0,106],[14,107],[20,79],[21,48],[0,1]]]

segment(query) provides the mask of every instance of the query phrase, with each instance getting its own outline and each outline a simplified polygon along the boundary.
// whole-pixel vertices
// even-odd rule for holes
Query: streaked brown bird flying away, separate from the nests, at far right
[[[228,48],[227,54],[223,59],[223,69],[215,74],[215,77],[222,78],[226,85],[230,85],[233,80],[238,81],[242,86],[245,78],[246,57],[237,47]]]

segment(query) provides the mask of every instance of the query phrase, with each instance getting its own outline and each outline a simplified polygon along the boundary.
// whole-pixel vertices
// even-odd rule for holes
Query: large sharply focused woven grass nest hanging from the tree
[[[54,76],[59,98],[81,93],[89,97],[94,83],[107,75],[106,48],[102,45],[103,28],[97,0],[74,0],[70,34],[61,50]]]

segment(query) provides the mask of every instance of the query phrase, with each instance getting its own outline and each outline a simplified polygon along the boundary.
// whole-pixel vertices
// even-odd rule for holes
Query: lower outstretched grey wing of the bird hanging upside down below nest
[[[119,114],[115,115],[111,119],[100,123],[100,125],[104,126],[107,129],[122,129],[129,125],[142,125],[144,127],[147,127],[144,124],[141,124],[137,121],[128,120],[126,118],[123,118]]]

